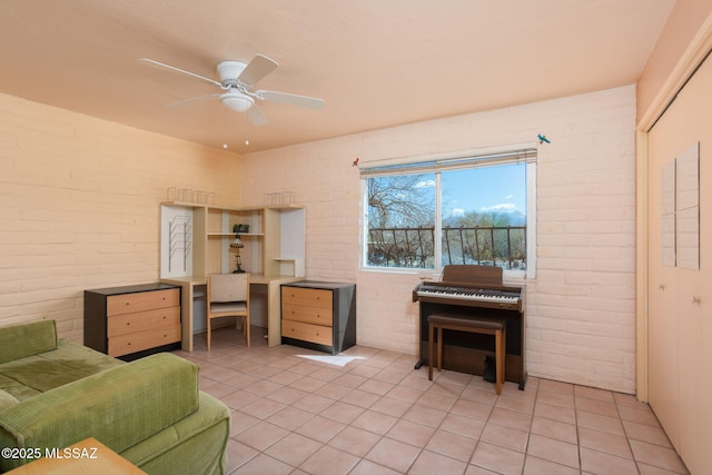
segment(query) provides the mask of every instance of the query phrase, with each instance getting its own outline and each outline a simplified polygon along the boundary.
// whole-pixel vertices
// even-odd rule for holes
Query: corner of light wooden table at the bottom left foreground
[[[66,452],[70,451],[70,452]],[[61,457],[61,458],[60,458]],[[11,475],[146,475],[93,437],[57,449],[57,457],[39,458],[14,468]]]

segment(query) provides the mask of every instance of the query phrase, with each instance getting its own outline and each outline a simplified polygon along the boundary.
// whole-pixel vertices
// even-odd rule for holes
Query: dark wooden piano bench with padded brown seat
[[[466,317],[457,314],[432,314],[427,317],[428,374],[433,380],[434,345],[433,336],[437,328],[437,370],[443,369],[443,329],[494,335],[494,353],[497,366],[495,388],[502,394],[504,383],[504,358],[507,335],[506,317]]]

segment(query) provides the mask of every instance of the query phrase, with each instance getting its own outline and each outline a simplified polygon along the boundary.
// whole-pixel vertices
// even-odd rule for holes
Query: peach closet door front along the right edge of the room
[[[692,166],[691,149],[699,151]],[[662,196],[665,167],[675,158],[678,251],[670,265]],[[696,209],[683,182],[694,167]],[[651,130],[649,170],[650,404],[688,468],[702,474],[712,463],[712,59]],[[689,248],[690,225],[698,226],[699,255]]]

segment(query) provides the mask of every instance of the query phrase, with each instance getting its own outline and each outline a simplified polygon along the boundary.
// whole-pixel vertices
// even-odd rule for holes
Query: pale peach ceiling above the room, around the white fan
[[[0,92],[245,154],[631,85],[673,4],[1,0]],[[166,108],[219,89],[138,61],[217,78],[256,53],[280,65],[258,89],[326,107],[259,102],[263,127],[217,100]]]

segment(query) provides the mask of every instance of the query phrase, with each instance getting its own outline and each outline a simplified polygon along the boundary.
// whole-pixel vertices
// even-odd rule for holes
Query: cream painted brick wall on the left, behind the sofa
[[[167,188],[239,204],[238,156],[0,95],[0,325],[83,339],[83,289],[156,281]]]

